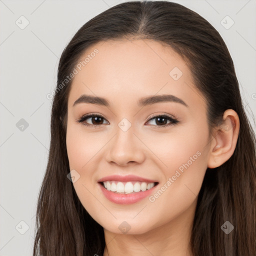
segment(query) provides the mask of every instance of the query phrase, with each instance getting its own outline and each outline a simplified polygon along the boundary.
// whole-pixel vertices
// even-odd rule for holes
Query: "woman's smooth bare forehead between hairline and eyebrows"
[[[193,99],[193,80],[185,61],[171,47],[154,40],[101,41],[87,48],[77,65],[70,106],[81,94],[122,103],[156,93]]]

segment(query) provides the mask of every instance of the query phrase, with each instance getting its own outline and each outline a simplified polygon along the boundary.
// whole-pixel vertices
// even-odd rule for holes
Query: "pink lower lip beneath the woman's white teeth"
[[[114,203],[119,203],[119,204],[131,204],[137,201],[142,200],[143,198],[149,196],[154,188],[158,185],[153,186],[152,188],[145,190],[145,191],[140,191],[140,192],[132,192],[130,194],[121,194],[121,193],[115,193],[110,190],[107,190],[104,188],[100,183],[99,187],[101,191],[103,192],[104,196],[110,200],[111,202]]]

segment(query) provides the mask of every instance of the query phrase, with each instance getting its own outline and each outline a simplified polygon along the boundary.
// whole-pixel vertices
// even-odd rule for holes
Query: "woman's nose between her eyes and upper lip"
[[[142,163],[145,159],[143,149],[143,143],[132,128],[123,131],[117,127],[116,134],[108,142],[106,161],[121,166]]]

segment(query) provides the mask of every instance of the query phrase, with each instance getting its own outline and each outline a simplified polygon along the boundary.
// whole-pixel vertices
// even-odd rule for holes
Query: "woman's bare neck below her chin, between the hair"
[[[143,234],[116,234],[104,229],[103,256],[193,256],[189,241],[196,199],[176,218]]]

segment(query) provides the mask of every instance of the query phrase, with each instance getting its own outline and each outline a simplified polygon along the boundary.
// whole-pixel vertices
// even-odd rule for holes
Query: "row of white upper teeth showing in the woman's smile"
[[[98,182],[104,189],[116,194],[134,194],[150,190],[155,187],[158,182],[141,182],[141,181],[128,181],[121,182],[117,180],[106,180]]]

